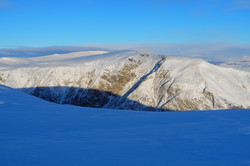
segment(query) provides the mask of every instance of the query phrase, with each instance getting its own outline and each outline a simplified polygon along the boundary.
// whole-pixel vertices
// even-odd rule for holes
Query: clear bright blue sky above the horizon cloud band
[[[250,0],[0,0],[0,48],[250,43]]]

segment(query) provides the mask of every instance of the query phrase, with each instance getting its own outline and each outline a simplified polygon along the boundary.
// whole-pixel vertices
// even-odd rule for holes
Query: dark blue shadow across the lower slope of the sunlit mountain
[[[109,108],[140,111],[169,111],[161,108],[143,105],[139,102],[107,91],[84,89],[77,87],[32,87],[19,90],[41,99],[58,103],[72,104],[83,107]],[[115,101],[120,101],[117,104]],[[110,104],[113,103],[113,104]]]

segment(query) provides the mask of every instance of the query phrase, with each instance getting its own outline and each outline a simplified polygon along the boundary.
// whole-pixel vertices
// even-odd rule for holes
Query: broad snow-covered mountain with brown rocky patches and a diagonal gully
[[[0,58],[0,84],[48,101],[133,110],[250,108],[250,73],[135,51]]]

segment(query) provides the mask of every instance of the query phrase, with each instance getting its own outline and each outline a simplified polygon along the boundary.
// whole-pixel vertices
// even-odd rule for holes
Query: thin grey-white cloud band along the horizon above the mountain
[[[250,44],[173,43],[173,44],[92,44],[82,46],[22,47],[0,49],[0,57],[37,57],[78,51],[131,49],[141,52],[202,58],[209,61],[250,60]]]

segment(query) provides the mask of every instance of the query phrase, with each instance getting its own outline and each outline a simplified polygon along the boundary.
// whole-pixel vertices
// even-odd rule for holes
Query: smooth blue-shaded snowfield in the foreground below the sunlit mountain
[[[249,117],[80,108],[0,86],[0,165],[249,166]]]

